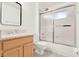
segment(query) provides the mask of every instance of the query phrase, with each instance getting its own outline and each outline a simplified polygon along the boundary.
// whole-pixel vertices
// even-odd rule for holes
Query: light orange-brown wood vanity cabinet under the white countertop
[[[0,47],[2,57],[32,57],[33,35],[3,40]]]

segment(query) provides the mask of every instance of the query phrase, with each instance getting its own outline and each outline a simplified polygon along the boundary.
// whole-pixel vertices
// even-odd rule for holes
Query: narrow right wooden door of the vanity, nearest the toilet
[[[33,56],[33,44],[28,43],[24,45],[24,57],[32,57]]]

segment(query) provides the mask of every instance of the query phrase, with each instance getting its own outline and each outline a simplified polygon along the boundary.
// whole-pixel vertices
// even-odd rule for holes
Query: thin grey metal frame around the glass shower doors
[[[76,6],[76,5],[75,5],[75,4],[71,4],[71,5],[67,5],[67,6],[64,6],[64,7],[60,7],[60,8],[57,8],[57,9],[55,9],[55,10],[48,11],[48,12],[53,12],[53,13],[54,13],[54,11],[56,11],[56,10],[63,9],[63,8],[67,8],[67,7],[71,7],[71,6]],[[76,9],[76,8],[75,8],[75,9]],[[40,26],[40,24],[41,24],[40,15],[41,15],[41,14],[48,13],[48,12],[44,12],[44,13],[40,13],[40,12],[39,12],[39,40],[40,40],[40,41],[45,41],[45,40],[41,40],[41,39],[40,39],[40,30],[41,30],[41,26]],[[75,13],[75,19],[76,19],[76,13]],[[74,28],[74,29],[75,29],[75,31],[74,31],[74,32],[75,32],[75,38],[74,38],[74,39],[75,39],[75,40],[74,40],[74,44],[75,44],[75,45],[74,45],[74,47],[76,47],[76,20],[75,20],[75,28]],[[52,40],[53,40],[52,43],[55,43],[55,42],[54,42],[54,19],[53,19],[53,39],[52,39]],[[46,41],[46,42],[48,42],[48,41]],[[58,43],[55,43],[55,44],[58,44]],[[70,45],[66,45],[66,44],[60,44],[60,45],[70,46]],[[70,46],[70,47],[72,47],[72,46]]]

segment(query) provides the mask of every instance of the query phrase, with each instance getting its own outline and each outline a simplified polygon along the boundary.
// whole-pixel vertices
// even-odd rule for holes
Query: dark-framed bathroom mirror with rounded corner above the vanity
[[[1,3],[1,24],[21,26],[22,6],[18,2]]]

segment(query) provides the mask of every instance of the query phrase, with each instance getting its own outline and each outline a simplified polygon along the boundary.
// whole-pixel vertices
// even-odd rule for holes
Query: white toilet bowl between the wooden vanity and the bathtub
[[[44,51],[47,49],[47,42],[39,41],[35,43],[35,52],[37,54],[43,55]]]

